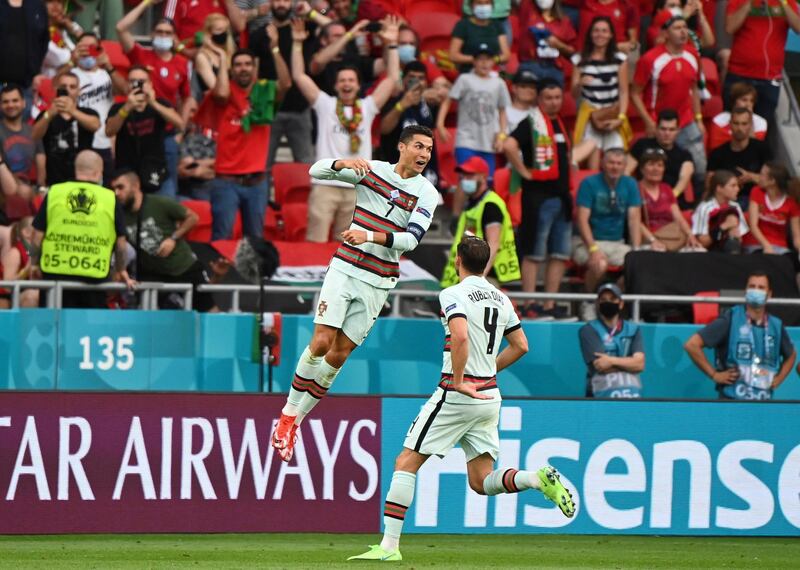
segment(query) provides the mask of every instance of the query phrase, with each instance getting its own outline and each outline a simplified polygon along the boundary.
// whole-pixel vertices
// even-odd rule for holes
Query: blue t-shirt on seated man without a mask
[[[613,199],[612,199],[613,196]],[[578,189],[578,206],[589,208],[589,225],[596,240],[622,241],[628,208],[642,205],[636,181],[622,176],[614,192],[602,173],[584,178]]]

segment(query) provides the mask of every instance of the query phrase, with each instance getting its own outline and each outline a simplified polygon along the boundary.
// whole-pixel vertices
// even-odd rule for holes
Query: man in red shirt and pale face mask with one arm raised
[[[117,34],[119,34],[122,49],[131,60],[131,64],[144,66],[150,71],[150,81],[156,97],[165,99],[172,108],[178,110],[185,122],[194,99],[191,96],[189,84],[189,62],[174,52],[177,35],[174,22],[169,18],[161,18],[156,21],[152,35],[153,49],[143,48],[136,43],[130,32],[130,28],[149,5],[150,0],[144,0],[128,12],[117,23]],[[164,137],[167,173],[159,188],[159,193],[164,196],[175,197],[178,191],[179,142],[176,140],[175,131],[170,127]]]

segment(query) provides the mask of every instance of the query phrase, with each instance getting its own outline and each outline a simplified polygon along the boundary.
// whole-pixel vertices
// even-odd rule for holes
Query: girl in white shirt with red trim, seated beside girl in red
[[[703,201],[692,215],[692,233],[706,249],[741,252],[742,238],[750,229],[738,195],[739,179],[730,170],[717,170],[709,178]]]

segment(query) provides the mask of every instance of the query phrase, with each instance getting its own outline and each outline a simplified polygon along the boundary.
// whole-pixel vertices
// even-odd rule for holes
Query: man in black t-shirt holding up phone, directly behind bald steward
[[[55,78],[56,98],[33,125],[34,140],[41,140],[47,157],[47,184],[72,180],[78,152],[91,149],[100,128],[97,112],[78,107],[80,80],[67,71]]]

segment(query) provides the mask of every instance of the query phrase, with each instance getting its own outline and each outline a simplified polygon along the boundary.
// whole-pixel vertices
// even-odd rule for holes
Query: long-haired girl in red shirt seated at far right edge
[[[742,241],[745,251],[788,252],[788,229],[792,231],[794,249],[800,250],[800,181],[777,161],[761,167],[759,178],[759,185],[750,191],[750,233]]]

